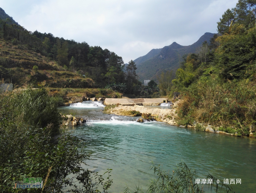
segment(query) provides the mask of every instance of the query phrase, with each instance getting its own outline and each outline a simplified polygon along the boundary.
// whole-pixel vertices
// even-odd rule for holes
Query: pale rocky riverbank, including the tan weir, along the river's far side
[[[210,125],[206,122],[200,122],[198,120],[193,121],[193,124],[183,125],[180,123],[177,108],[179,103],[182,100],[178,100],[173,103],[172,109],[160,109],[160,108],[150,108],[148,106],[159,106],[161,103],[167,103],[167,98],[157,98],[157,99],[147,99],[147,98],[138,98],[138,99],[126,99],[126,98],[86,98],[79,96],[72,97],[64,97],[63,106],[69,106],[71,104],[80,104],[86,105],[85,101],[91,102],[102,102],[102,104],[106,105],[105,113],[116,114],[120,116],[140,116],[141,114],[146,114],[152,116],[155,121],[166,122],[170,125],[194,128],[195,130],[211,132],[211,133],[220,133],[224,135],[231,136],[242,136],[241,133],[237,132],[237,129],[233,126],[223,127],[223,125]],[[104,106],[102,106],[104,107]],[[79,121],[77,124],[69,122],[65,122],[64,125],[79,125]],[[249,128],[248,137],[256,138],[253,134],[253,127]]]

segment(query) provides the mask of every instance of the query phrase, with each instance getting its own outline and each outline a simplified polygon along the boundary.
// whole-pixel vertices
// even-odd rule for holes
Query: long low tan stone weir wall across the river
[[[143,105],[143,106],[158,106],[161,103],[167,103],[167,98],[138,98],[138,99],[115,99],[115,98],[106,98],[104,104],[105,105],[126,105],[126,106],[134,106],[134,105]]]

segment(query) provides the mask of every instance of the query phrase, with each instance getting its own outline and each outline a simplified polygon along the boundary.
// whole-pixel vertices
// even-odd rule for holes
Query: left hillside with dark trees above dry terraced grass
[[[54,88],[107,87],[127,94],[141,92],[132,61],[125,67],[122,57],[100,46],[28,31],[2,9],[0,18],[0,70],[14,76],[15,88],[43,84]]]

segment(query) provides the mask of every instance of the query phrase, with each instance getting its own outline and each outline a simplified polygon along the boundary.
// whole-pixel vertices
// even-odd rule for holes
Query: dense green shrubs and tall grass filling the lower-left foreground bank
[[[59,135],[52,133],[60,118],[45,89],[0,96],[2,192],[20,192],[12,188],[14,183],[30,177],[42,177],[44,181],[42,189],[27,189],[32,193],[67,192],[64,186],[70,187],[69,192],[77,193],[96,193],[100,186],[104,192],[108,191],[112,184],[111,170],[105,173],[108,175],[105,181],[103,175],[82,169],[89,156],[83,151],[82,141],[64,129],[59,130]]]

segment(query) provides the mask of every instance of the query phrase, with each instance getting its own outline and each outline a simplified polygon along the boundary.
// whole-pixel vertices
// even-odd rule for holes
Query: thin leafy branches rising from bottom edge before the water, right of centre
[[[151,179],[149,188],[147,192],[150,193],[203,193],[203,186],[200,187],[199,184],[195,183],[195,179],[197,179],[197,172],[195,169],[190,169],[187,164],[181,162],[177,164],[177,168],[173,170],[173,173],[169,173],[164,171],[160,165],[153,165],[150,167],[151,170],[154,170],[154,174],[156,175],[156,179]],[[211,190],[216,187],[216,192],[218,191],[218,183],[217,179],[213,177],[211,174],[207,176],[207,178],[213,179],[213,183],[208,188]],[[215,180],[215,186],[214,186]],[[222,186],[226,187],[227,192],[233,192],[233,189],[224,184]],[[222,188],[222,187],[221,187]],[[128,187],[124,191],[125,193],[143,193],[139,186],[136,186],[134,191],[131,191]]]

